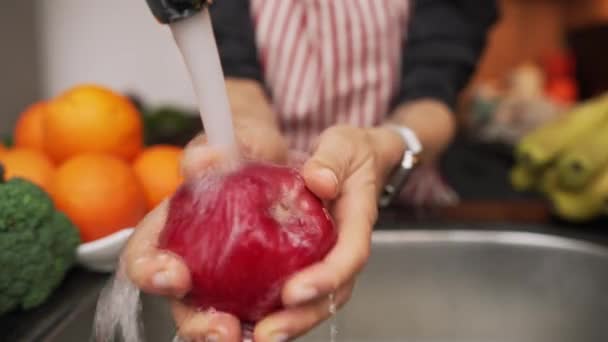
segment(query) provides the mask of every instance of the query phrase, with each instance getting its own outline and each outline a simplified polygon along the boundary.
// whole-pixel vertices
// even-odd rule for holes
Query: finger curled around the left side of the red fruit
[[[129,279],[144,292],[182,297],[190,289],[190,272],[181,259],[157,248],[168,201],[152,210],[135,228],[123,253]]]

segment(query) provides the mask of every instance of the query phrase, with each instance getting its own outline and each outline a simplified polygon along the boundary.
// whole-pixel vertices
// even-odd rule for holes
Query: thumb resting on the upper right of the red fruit
[[[334,127],[325,131],[312,157],[304,164],[302,176],[308,188],[322,199],[334,199],[347,177],[357,149],[358,139],[348,128]]]

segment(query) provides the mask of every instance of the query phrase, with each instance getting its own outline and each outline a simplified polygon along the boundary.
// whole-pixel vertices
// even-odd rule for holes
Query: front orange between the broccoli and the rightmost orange
[[[146,199],[131,166],[108,154],[81,154],[55,172],[51,196],[89,242],[133,227]]]

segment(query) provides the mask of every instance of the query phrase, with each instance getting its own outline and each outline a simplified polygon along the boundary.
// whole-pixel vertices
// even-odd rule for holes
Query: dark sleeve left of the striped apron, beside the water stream
[[[262,81],[249,0],[219,0],[210,7],[226,77]]]

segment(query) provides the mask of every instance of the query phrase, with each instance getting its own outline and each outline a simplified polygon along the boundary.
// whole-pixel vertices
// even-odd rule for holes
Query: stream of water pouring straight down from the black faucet
[[[232,113],[209,10],[170,25],[198,99],[205,134],[212,145],[234,145]]]

